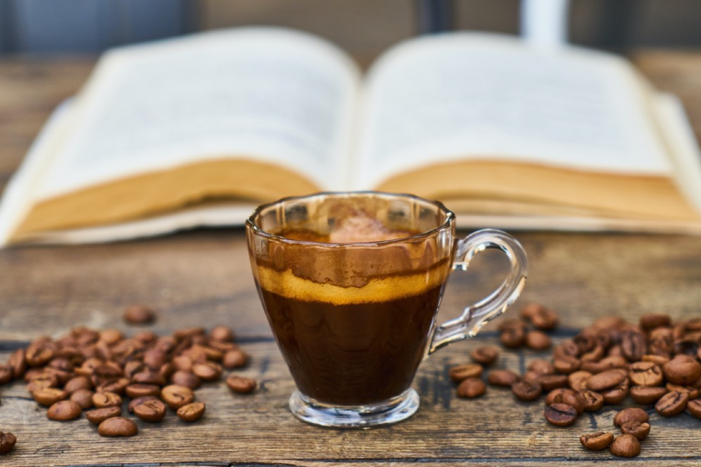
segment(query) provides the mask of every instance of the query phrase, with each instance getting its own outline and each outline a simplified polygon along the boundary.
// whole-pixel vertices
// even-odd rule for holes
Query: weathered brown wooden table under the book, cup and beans
[[[701,135],[701,53],[641,53],[637,63],[662,89],[686,104]],[[88,75],[89,60],[0,62],[0,186],[8,181],[48,113]],[[572,336],[599,316],[629,320],[646,312],[673,318],[701,316],[701,238],[617,234],[521,233],[529,253],[529,282],[520,304],[540,302],[562,314],[557,339]],[[467,277],[449,283],[440,318],[447,318],[494,287],[505,269],[487,252]],[[252,356],[241,371],[259,380],[257,393],[235,396],[222,382],[197,397],[205,418],[184,424],[139,423],[139,435],[102,438],[85,418],[46,419],[15,382],[0,387],[0,431],[18,437],[0,466],[271,465],[332,466],[393,462],[458,465],[561,465],[621,461],[587,452],[579,435],[611,430],[613,407],[580,417],[571,428],[543,419],[542,400],[517,402],[510,391],[489,388],[477,400],[459,400],[447,378],[466,363],[470,348],[496,343],[494,325],[473,341],[454,344],[426,360],[414,386],[421,408],[389,428],[338,431],[294,419],[287,398],[294,384],[250,276],[243,232],[193,231],[114,245],[17,248],[0,251],[0,361],[41,334],[58,337],[71,327],[137,330],[121,320],[125,306],[147,303],[159,311],[160,334],[178,327],[231,325]],[[557,340],[556,339],[556,340]],[[523,372],[534,351],[505,352],[498,367]],[[701,421],[683,414],[651,415],[653,426],[637,464],[701,463]]]

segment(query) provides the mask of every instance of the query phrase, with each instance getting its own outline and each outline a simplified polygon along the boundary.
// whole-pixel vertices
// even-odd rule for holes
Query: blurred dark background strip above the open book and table
[[[544,5],[551,10],[522,14]],[[538,34],[543,15],[559,16],[550,36],[624,55],[701,46],[701,0],[0,0],[0,55],[94,54],[206,29],[280,25],[365,62],[427,32]]]

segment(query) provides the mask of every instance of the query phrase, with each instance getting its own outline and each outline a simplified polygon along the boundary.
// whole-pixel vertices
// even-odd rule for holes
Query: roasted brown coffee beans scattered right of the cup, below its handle
[[[519,318],[501,323],[499,340],[506,348],[543,350],[550,347],[550,337],[543,331],[554,330],[558,321],[554,311],[529,304]],[[475,363],[451,368],[449,376],[458,384],[459,397],[484,394],[484,367],[494,363],[499,352],[490,346],[475,348],[470,353]],[[662,417],[686,410],[701,419],[701,318],[672,323],[667,315],[647,314],[637,324],[618,317],[599,318],[554,346],[552,358],[531,360],[526,370],[522,375],[491,370],[486,381],[511,388],[518,400],[533,401],[545,394],[544,416],[554,426],[570,426],[583,412],[618,405],[628,397],[640,405],[654,405]],[[637,456],[640,441],[651,428],[647,412],[627,408],[616,415],[614,424],[622,434],[586,434],[580,442],[586,449],[608,447],[616,456]]]

